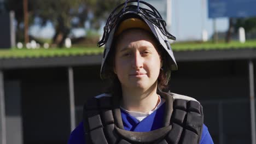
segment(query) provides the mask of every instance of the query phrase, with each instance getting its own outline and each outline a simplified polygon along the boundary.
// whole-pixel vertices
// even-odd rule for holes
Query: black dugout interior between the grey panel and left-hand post
[[[70,133],[67,70],[10,70],[5,71],[5,79],[21,83],[24,144],[67,143]]]

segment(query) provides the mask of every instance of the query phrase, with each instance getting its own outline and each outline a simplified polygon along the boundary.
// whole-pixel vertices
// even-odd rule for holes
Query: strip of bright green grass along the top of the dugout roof
[[[226,43],[174,43],[171,44],[173,51],[199,51],[199,50],[229,50],[229,49],[256,49],[256,40],[246,41],[241,44],[238,41]],[[98,55],[103,52],[101,47],[72,47],[50,48],[50,49],[1,49],[0,58],[37,58],[37,57],[62,57],[62,56],[84,56]]]

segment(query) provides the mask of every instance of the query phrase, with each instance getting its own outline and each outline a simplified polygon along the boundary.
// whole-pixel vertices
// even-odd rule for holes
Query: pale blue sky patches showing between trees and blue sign
[[[216,19],[216,27],[218,32],[226,31],[228,29],[228,18]],[[207,0],[172,0],[170,32],[177,38],[177,41],[201,40],[202,29],[207,31],[208,38],[211,37],[214,31],[213,20],[208,18]],[[103,29],[101,31],[103,32]],[[73,32],[78,37],[85,34],[84,29],[74,29]],[[54,28],[50,22],[44,28],[33,26],[30,29],[30,34],[50,38],[54,35]]]

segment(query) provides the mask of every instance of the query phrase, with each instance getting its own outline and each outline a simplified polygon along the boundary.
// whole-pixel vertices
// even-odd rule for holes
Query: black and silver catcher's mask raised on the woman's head
[[[137,3],[137,5],[135,5]],[[146,7],[141,7],[141,5]],[[126,0],[125,3],[118,5],[109,15],[102,39],[98,42],[98,46],[104,45],[103,58],[101,63],[101,78],[106,79],[106,59],[109,51],[112,49],[113,38],[130,28],[141,28],[151,32],[160,46],[167,53],[167,63],[169,70],[177,70],[177,64],[173,56],[171,45],[168,39],[176,40],[166,29],[166,22],[162,19],[158,10],[147,2]]]

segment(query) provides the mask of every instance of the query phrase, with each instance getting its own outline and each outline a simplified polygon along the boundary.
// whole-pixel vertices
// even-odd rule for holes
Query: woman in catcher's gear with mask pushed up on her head
[[[99,42],[105,44],[101,77],[112,86],[88,100],[69,143],[213,143],[200,103],[166,93],[177,69],[168,43],[175,37],[152,5],[132,2],[110,14]]]

